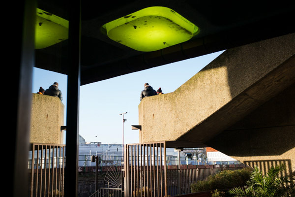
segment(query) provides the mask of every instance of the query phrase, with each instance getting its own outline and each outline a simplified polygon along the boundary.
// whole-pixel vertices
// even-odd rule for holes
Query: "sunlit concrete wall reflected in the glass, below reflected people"
[[[63,144],[64,105],[59,98],[32,94],[30,143]]]

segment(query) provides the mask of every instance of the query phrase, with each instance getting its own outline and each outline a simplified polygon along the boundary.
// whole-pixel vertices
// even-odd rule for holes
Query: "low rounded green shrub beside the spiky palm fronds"
[[[238,170],[224,170],[218,174],[208,176],[207,180],[198,181],[191,185],[192,193],[230,189],[245,185],[250,179],[250,174],[253,169],[243,168]]]

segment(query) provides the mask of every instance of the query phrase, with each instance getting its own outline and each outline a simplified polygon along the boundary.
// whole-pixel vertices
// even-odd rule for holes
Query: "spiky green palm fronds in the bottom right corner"
[[[295,182],[285,175],[286,166],[277,165],[269,168],[266,175],[255,167],[245,186],[230,189],[235,197],[290,197],[295,194]]]

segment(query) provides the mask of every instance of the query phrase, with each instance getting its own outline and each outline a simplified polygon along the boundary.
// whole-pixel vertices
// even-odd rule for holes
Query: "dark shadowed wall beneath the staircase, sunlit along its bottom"
[[[295,84],[207,144],[264,171],[278,163],[295,171]]]

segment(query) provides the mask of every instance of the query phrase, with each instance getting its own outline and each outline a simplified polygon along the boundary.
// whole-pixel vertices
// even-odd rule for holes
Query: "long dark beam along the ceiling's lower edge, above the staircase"
[[[256,28],[256,31],[253,31],[253,28]],[[291,26],[285,26],[285,29],[278,27],[278,29],[271,29],[271,31],[270,28],[261,27],[260,24],[257,24],[257,26],[251,26],[251,28],[244,27],[236,31],[193,39],[158,51],[86,69],[81,71],[81,85],[295,32],[295,27]]]

